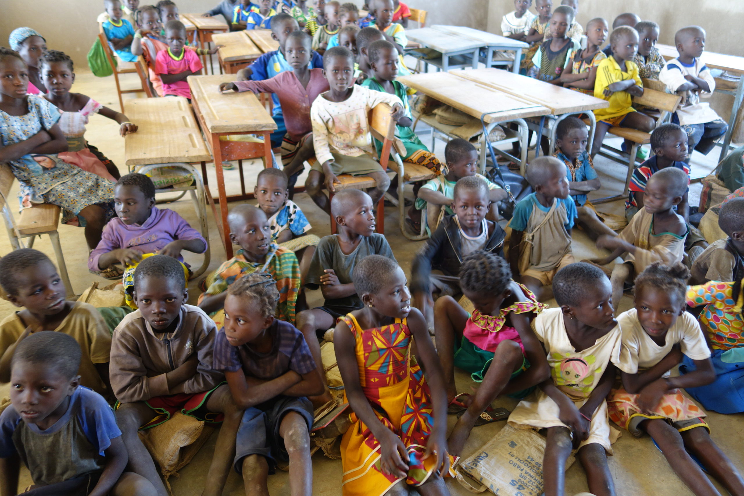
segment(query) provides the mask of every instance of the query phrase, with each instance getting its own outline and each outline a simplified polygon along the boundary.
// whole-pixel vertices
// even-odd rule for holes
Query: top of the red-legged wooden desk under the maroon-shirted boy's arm
[[[192,100],[199,107],[208,132],[273,131],[277,125],[251,91],[222,94],[219,83],[235,80],[234,74],[215,76],[189,76]]]

